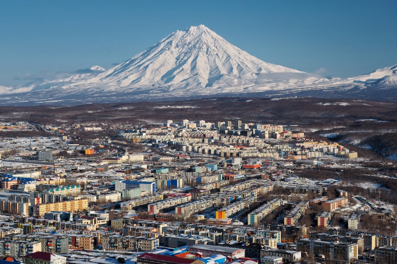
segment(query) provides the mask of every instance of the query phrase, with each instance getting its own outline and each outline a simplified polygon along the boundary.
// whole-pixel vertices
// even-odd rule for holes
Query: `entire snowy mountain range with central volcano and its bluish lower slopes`
[[[266,63],[200,25],[176,31],[109,70],[93,66],[66,78],[0,86],[0,94],[3,104],[31,105],[253,96],[252,93],[266,97],[397,100],[396,70],[397,65],[353,78],[328,79]]]

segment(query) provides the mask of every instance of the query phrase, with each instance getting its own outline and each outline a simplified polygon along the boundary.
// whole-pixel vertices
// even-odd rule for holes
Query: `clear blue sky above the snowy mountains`
[[[396,0],[1,1],[0,85],[109,69],[200,24],[265,62],[360,75],[397,64],[396,13]]]

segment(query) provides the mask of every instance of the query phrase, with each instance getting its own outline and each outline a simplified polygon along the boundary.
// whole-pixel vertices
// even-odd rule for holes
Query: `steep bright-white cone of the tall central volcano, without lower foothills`
[[[249,80],[261,73],[301,72],[265,63],[200,25],[172,33],[92,80],[115,82],[119,87],[202,89],[214,82],[222,86],[251,84]]]

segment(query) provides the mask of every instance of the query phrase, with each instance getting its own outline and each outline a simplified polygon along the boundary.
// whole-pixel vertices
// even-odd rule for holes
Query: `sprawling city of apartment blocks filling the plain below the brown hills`
[[[0,131],[0,264],[397,260],[395,229],[361,228],[369,215],[394,222],[390,206],[338,178],[297,173],[365,159],[298,126],[21,122]]]

